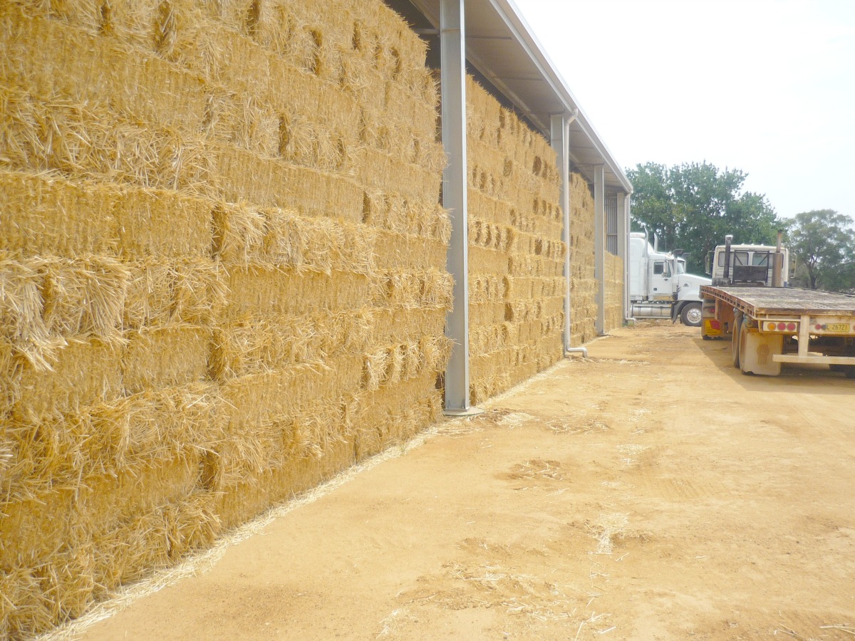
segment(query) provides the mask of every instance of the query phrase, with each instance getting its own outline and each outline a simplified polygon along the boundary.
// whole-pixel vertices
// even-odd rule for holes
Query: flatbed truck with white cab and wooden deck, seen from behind
[[[712,284],[701,287],[703,338],[730,336],[742,373],[776,376],[782,363],[828,365],[855,378],[855,297],[787,286],[787,250],[734,245],[711,252]]]

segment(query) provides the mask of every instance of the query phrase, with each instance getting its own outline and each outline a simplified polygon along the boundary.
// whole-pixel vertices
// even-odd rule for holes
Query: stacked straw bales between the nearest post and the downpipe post
[[[473,403],[562,356],[562,214],[547,141],[467,85],[469,353]]]

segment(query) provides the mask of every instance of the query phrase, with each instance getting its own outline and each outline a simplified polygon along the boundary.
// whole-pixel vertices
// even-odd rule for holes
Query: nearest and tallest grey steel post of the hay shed
[[[451,215],[445,260],[454,279],[454,309],[445,317],[445,335],[454,341],[445,368],[445,411],[469,411],[469,244],[466,204],[466,50],[464,0],[439,4],[439,64],[442,144],[448,165],[442,174],[442,203]]]

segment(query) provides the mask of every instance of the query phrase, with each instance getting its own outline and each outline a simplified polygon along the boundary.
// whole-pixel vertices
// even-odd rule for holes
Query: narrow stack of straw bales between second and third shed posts
[[[590,185],[570,173],[570,344],[597,336],[597,291],[594,277],[594,208]]]

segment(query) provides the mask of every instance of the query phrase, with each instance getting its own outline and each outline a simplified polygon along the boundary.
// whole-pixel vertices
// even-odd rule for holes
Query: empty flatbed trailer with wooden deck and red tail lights
[[[855,378],[855,296],[765,285],[703,285],[701,336],[731,338],[734,367],[776,376],[824,363]]]

